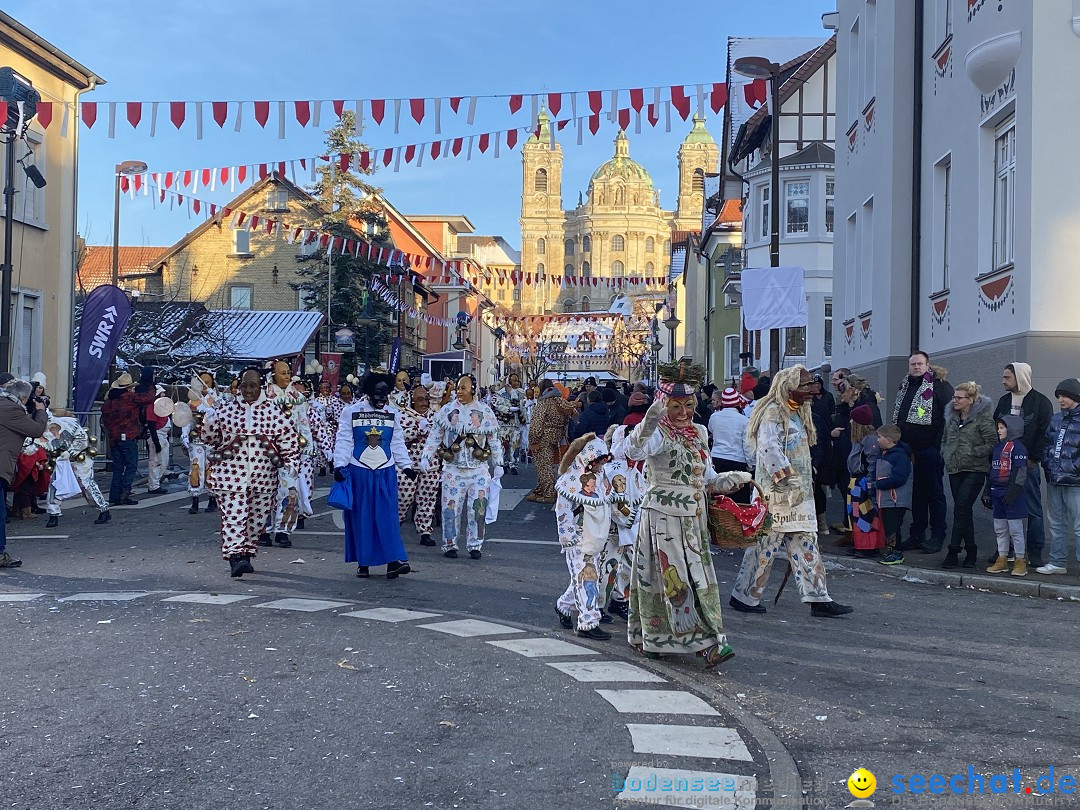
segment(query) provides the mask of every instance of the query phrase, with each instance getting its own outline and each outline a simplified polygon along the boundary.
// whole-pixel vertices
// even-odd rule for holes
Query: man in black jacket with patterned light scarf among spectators
[[[931,368],[930,355],[913,352],[907,359],[907,376],[900,383],[892,420],[915,457],[912,486],[912,534],[902,550],[936,554],[945,544],[945,464],[942,437],[953,387],[944,368]],[[989,453],[987,451],[987,465]],[[985,472],[985,469],[984,469]],[[930,539],[927,540],[927,527]],[[974,561],[972,561],[974,565]]]

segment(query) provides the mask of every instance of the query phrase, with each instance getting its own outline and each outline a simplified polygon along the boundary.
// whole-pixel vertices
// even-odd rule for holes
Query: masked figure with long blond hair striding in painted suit
[[[818,549],[810,445],[815,441],[810,401],[814,381],[802,366],[777,373],[769,393],[754,405],[747,435],[756,454],[755,480],[772,515],[771,530],[743,554],[728,604],[764,613],[761,594],[773,561],[786,551],[804,603],[813,616],[835,617],[852,608],[829,597],[825,564]]]

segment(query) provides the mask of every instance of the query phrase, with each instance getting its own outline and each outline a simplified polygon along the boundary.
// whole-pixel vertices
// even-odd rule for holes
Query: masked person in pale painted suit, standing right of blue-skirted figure
[[[472,387],[463,394],[465,383]],[[475,399],[473,376],[464,375],[458,386],[458,400],[440,408],[431,420],[420,471],[429,472],[436,456],[443,461],[443,555],[458,555],[458,526],[463,517],[469,556],[480,559],[488,487],[492,475],[502,477],[502,443],[491,408]],[[470,401],[463,402],[462,396]]]

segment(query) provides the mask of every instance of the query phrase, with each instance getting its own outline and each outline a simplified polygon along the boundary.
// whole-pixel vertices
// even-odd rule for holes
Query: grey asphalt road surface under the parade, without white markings
[[[507,485],[527,488],[531,476]],[[232,580],[216,553],[216,516],[184,507],[116,510],[105,527],[76,509],[48,532],[43,517],[9,525],[40,539],[11,542],[25,565],[0,571],[0,594],[43,595],[0,603],[0,808],[610,807],[613,771],[660,760],[753,774],[758,807],[784,795],[846,807],[848,774],[865,766],[877,774],[878,807],[989,808],[1031,797],[897,797],[891,783],[969,766],[984,775],[1020,768],[1022,789],[1051,766],[1058,780],[1080,775],[1076,604],[835,570],[834,597],[856,612],[819,620],[794,583],[772,606],[777,570],[768,615],[726,612],[737,657],[723,674],[693,661],[634,662],[660,673],[670,685],[661,688],[716,707],[717,719],[675,721],[735,729],[751,761],[650,758],[626,726],[640,716],[597,697],[610,685],[548,665],[569,659],[345,616],[409,608],[438,613],[432,622],[475,617],[578,644],[553,621],[566,569],[550,508],[522,502],[502,513],[482,561],[444,559],[407,529],[416,571],[388,582],[352,576],[330,515],[309,521],[293,549],[261,554],[257,575]],[[715,562],[730,586],[738,557]],[[149,595],[59,600],[83,591]],[[252,598],[164,602],[183,593]],[[348,606],[255,607],[276,597]],[[613,629],[612,642],[586,645],[605,660],[627,656]],[[769,784],[769,739],[786,747],[804,784]],[[1075,806],[1053,798],[1049,806]]]

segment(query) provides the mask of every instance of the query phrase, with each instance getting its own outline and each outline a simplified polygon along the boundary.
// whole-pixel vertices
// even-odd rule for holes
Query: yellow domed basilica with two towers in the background
[[[584,198],[563,208],[563,148],[552,144],[551,123],[541,111],[538,131],[522,149],[523,275],[580,280],[670,276],[675,231],[701,229],[705,174],[716,172],[719,149],[694,117],[678,149],[678,202],[660,207],[660,193],[645,167],[630,157],[630,139],[620,131],[615,156],[593,172]],[[624,286],[631,294],[658,293],[656,286]],[[619,291],[602,284],[519,284],[513,309],[522,314],[607,310]]]

